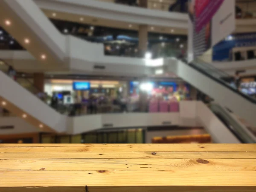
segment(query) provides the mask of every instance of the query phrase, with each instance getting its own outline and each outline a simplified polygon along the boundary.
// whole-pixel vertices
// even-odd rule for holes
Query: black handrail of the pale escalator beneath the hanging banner
[[[242,96],[244,99],[252,102],[253,104],[256,104],[256,99],[253,99],[250,96],[247,96],[244,93],[241,93],[240,91],[232,88],[230,85],[228,85],[227,83],[225,83],[223,80],[218,79],[212,75],[210,75],[209,73],[207,73],[206,71],[202,70],[201,68],[197,67],[195,64],[193,64],[193,61],[191,62],[191,64],[189,64],[189,62],[186,59],[181,59],[181,61],[183,61],[184,63],[186,63],[189,67],[192,67],[193,69],[200,71],[201,73],[203,73],[205,76],[209,77],[210,79],[217,81],[219,84],[221,84],[222,86],[227,87],[228,89],[232,90],[234,93],[239,94],[240,96]],[[213,67],[214,68],[214,67]],[[216,69],[217,71],[218,69]]]

